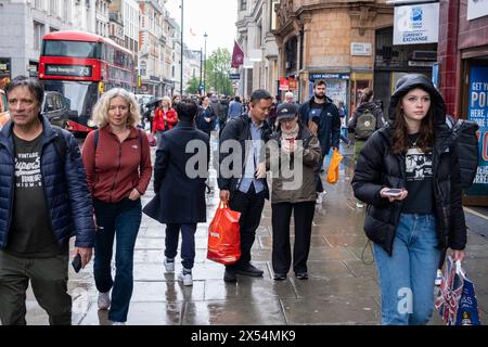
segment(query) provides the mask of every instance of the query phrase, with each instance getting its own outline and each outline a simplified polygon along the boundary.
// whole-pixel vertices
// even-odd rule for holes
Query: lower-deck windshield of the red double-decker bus
[[[97,103],[98,83],[64,80],[42,80],[42,83],[46,90],[59,91],[64,95],[70,110],[69,119],[87,125]]]

